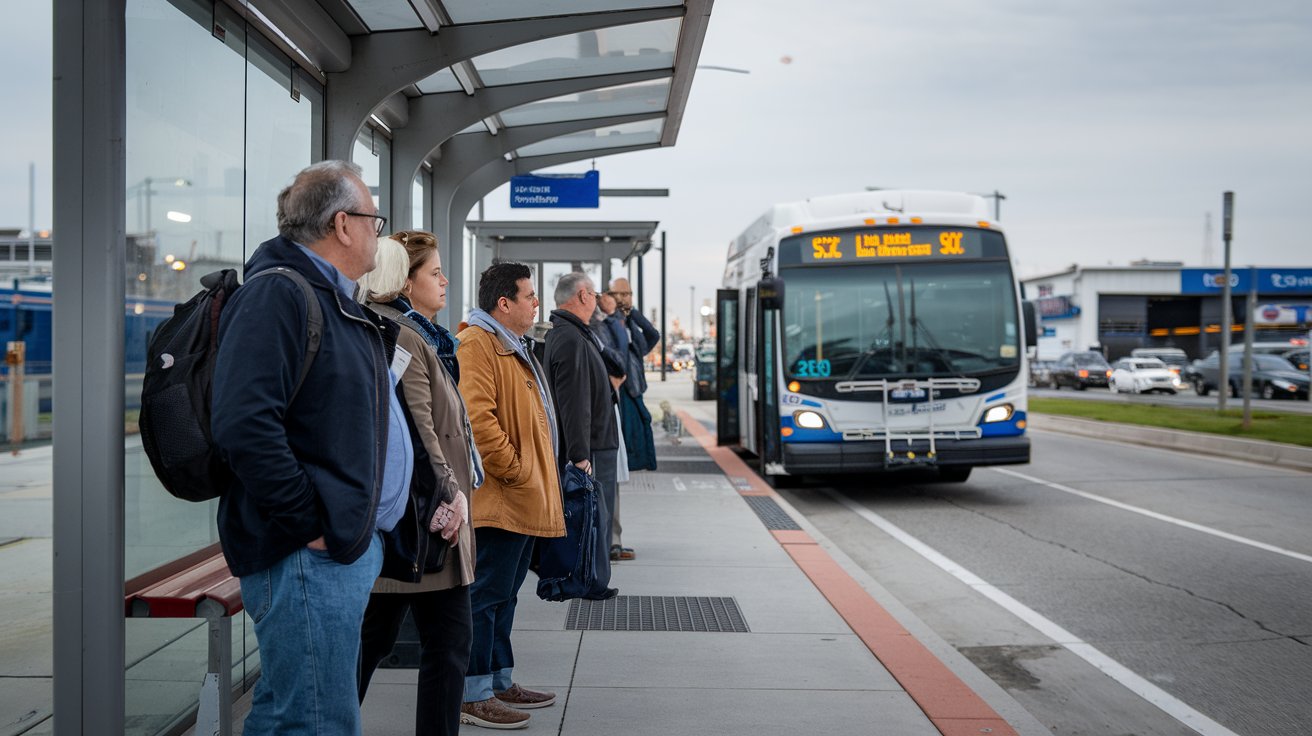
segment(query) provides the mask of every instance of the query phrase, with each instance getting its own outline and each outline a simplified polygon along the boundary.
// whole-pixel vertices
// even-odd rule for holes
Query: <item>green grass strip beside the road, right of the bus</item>
[[[1120,404],[1114,401],[1081,401],[1078,399],[1043,399],[1030,396],[1030,411],[1040,415],[1061,415],[1097,421],[1206,432],[1245,440],[1284,442],[1312,447],[1312,415],[1282,412],[1253,412],[1253,424],[1240,426],[1242,409],[1194,409],[1164,407],[1160,404]]]

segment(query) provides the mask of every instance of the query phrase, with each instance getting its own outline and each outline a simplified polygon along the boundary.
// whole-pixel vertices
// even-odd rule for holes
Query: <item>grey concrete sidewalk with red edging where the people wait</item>
[[[623,542],[638,559],[614,567],[619,598],[585,603],[598,621],[657,598],[697,600],[685,602],[707,610],[729,605],[748,631],[571,628],[571,607],[580,603],[541,601],[530,575],[516,615],[516,680],[555,691],[558,702],[530,711],[523,732],[1048,733],[928,627],[907,621],[900,605],[878,603],[874,581],[841,552],[830,556],[800,514],[744,475],[745,466],[726,475],[719,454],[727,450],[712,458],[686,432],[663,432],[663,394],[690,396],[690,388],[686,380],[653,383],[648,404],[661,470],[635,474],[621,491]],[[731,621],[718,613],[720,623]],[[685,626],[697,623],[684,618]],[[642,628],[636,617],[627,623]],[[363,705],[366,733],[413,733],[415,677],[405,669],[375,674]],[[913,698],[908,690],[917,687]]]

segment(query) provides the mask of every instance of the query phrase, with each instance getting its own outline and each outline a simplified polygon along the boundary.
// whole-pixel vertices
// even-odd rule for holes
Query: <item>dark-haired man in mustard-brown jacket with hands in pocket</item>
[[[496,264],[479,278],[479,308],[458,335],[461,395],[487,475],[472,504],[474,645],[461,722],[484,728],[525,728],[529,714],[516,708],[556,701],[554,693],[512,680],[510,628],[533,538],[565,534],[555,407],[542,366],[523,341],[537,311],[529,268]]]

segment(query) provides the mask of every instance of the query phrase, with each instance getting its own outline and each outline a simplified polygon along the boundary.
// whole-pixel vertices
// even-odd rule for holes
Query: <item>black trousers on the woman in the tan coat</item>
[[[470,588],[458,585],[424,593],[374,593],[365,609],[359,651],[359,702],[378,663],[396,644],[409,610],[419,630],[419,690],[415,701],[416,736],[455,736],[461,729],[464,669],[470,663],[472,622]]]

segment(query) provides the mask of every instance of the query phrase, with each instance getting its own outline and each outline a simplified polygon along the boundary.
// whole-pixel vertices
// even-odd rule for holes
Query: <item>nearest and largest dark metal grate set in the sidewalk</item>
[[[615,596],[609,601],[569,601],[569,631],[731,631],[747,634],[733,598]]]

